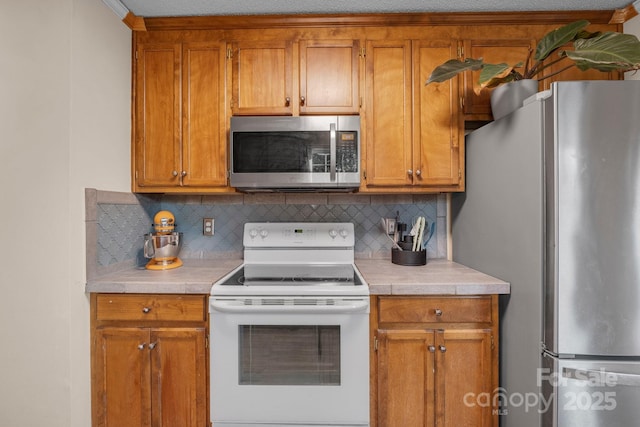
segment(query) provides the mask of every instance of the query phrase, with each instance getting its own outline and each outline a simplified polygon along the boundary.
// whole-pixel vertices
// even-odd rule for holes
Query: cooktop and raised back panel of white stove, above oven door
[[[369,295],[352,223],[247,223],[244,264],[211,295]]]

